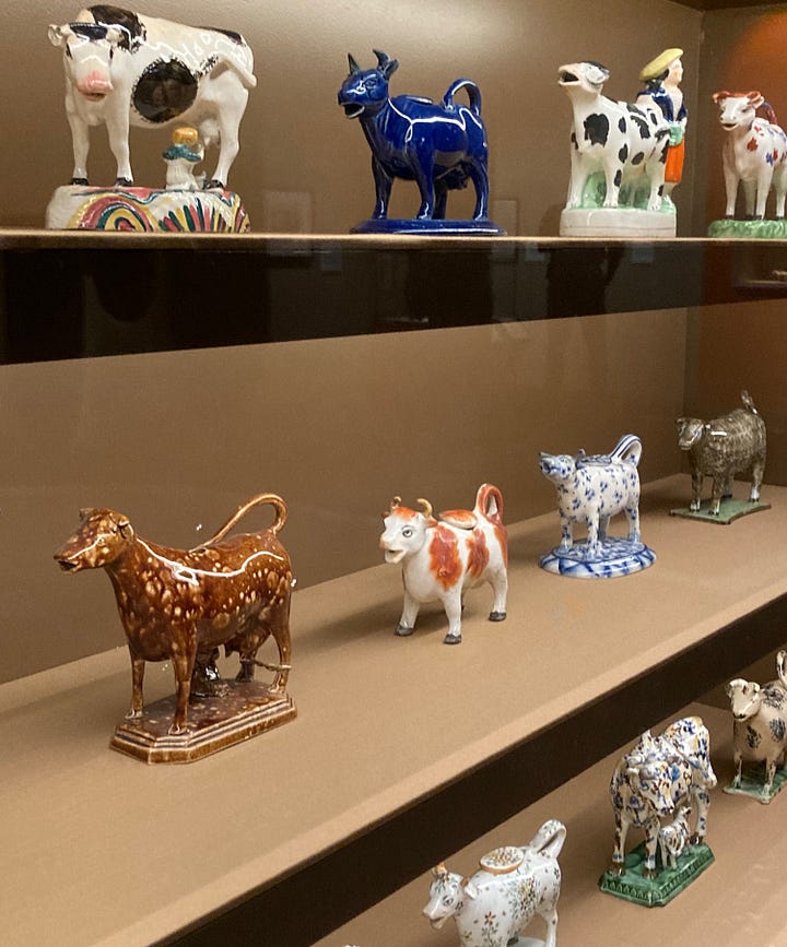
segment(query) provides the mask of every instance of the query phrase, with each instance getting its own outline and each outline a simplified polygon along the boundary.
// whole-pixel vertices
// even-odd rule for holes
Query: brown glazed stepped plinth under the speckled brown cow
[[[286,723],[296,714],[292,698],[271,695],[266,684],[223,684],[227,690],[222,696],[197,698],[189,703],[185,733],[168,732],[175,697],[165,697],[146,707],[141,720],[118,724],[109,746],[143,762],[193,762]]]

